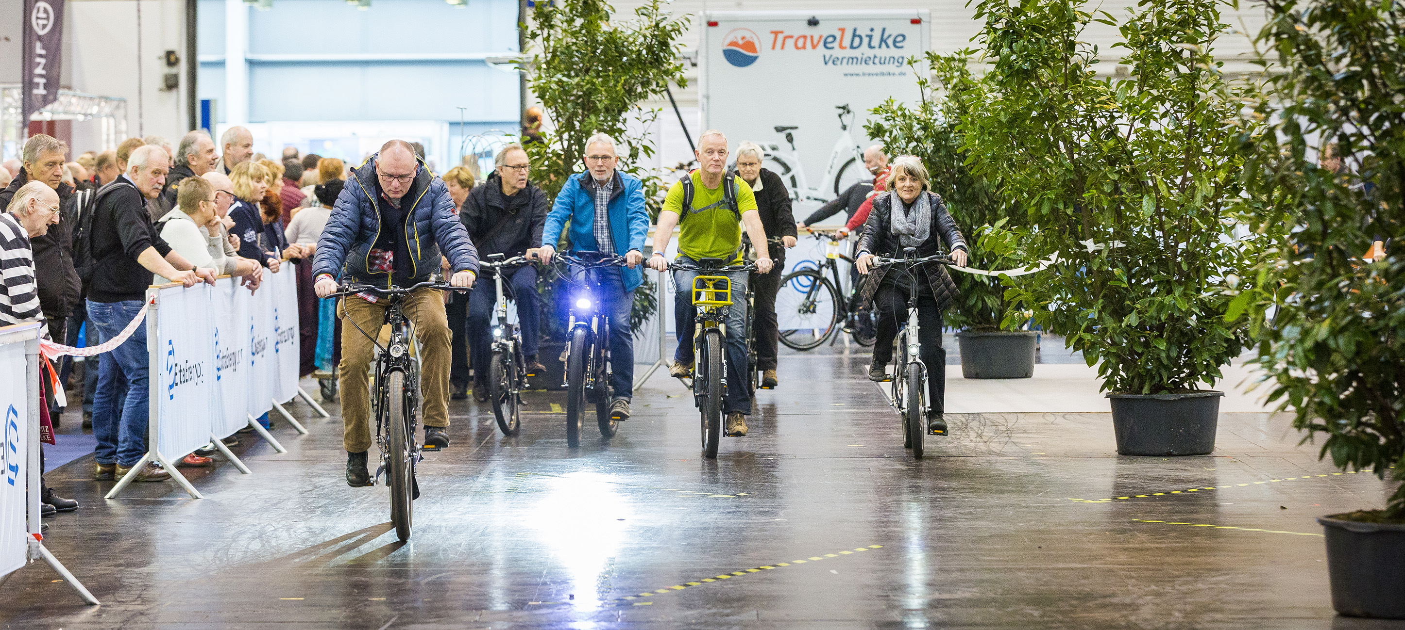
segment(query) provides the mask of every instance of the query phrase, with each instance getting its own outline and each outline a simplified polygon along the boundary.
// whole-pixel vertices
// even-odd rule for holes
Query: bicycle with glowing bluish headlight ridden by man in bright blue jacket
[[[569,269],[563,278],[572,285],[570,320],[566,324],[566,445],[580,446],[582,418],[587,404],[596,406],[600,435],[613,438],[620,420],[610,414],[614,387],[610,386],[610,314],[601,296],[600,269],[624,267],[625,258],[613,254],[577,251],[556,254]],[[583,281],[573,279],[583,275]]]

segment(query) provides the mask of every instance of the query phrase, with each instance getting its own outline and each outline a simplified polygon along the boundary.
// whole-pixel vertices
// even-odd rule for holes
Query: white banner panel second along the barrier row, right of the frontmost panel
[[[249,427],[249,289],[233,279],[221,279],[211,292],[211,320],[215,352],[215,400],[219,411],[215,435],[228,438]]]

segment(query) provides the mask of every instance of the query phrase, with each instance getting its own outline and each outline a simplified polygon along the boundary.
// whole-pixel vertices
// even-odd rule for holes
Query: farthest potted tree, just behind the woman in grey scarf
[[[946,199],[957,224],[972,239],[972,268],[1009,269],[1021,264],[1012,255],[1017,241],[1005,230],[1010,219],[1019,220],[1019,209],[1002,199],[993,182],[971,173],[965,164],[964,135],[957,128],[972,107],[962,97],[972,93],[978,81],[969,62],[969,52],[929,52],[926,65],[932,79],[927,79],[917,69],[920,62],[910,59],[922,100],[909,108],[889,98],[873,109],[865,130],[881,140],[889,154],[917,156],[927,166],[932,188]],[[961,375],[967,379],[1034,376],[1035,334],[1016,330],[1013,324],[1002,327],[1009,309],[1000,278],[955,272],[951,276],[958,296],[944,319],[947,326],[960,330]]]

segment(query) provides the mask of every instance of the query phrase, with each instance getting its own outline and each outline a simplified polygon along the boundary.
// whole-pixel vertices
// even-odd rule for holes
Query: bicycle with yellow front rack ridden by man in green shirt
[[[732,307],[732,279],[726,272],[752,271],[754,264],[728,265],[724,258],[701,258],[695,265],[669,262],[669,269],[697,271],[693,278],[693,404],[702,414],[702,453],[717,459],[722,439],[722,398],[726,393],[726,314]],[[680,288],[681,289],[681,288]],[[750,317],[746,317],[747,320]]]

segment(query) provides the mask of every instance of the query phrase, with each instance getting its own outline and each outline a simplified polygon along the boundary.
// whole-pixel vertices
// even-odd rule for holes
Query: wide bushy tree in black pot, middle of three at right
[[[1243,276],[1253,243],[1234,233],[1243,159],[1232,87],[1211,56],[1228,29],[1215,0],[1144,0],[1120,24],[1064,0],[984,0],[991,63],[962,98],[972,171],[1026,213],[1028,260],[1007,321],[1033,319],[1099,366],[1117,452],[1214,450],[1221,391],[1205,389],[1245,347],[1227,323],[1224,278]],[[1099,76],[1090,22],[1117,27],[1125,72]],[[1109,73],[1111,74],[1111,73]]]

